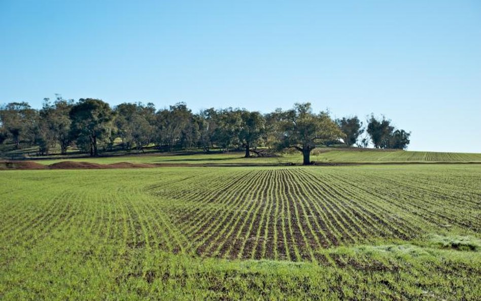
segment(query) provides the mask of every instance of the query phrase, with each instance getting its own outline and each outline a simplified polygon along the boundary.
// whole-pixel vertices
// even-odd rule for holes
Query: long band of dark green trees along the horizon
[[[123,103],[114,108],[100,99],[78,102],[60,95],[44,98],[41,109],[15,102],[0,107],[0,143],[10,139],[39,147],[48,155],[59,146],[62,155],[69,147],[96,156],[112,150],[114,141],[130,151],[155,147],[160,151],[201,148],[209,152],[244,149],[245,156],[261,155],[257,147],[274,151],[294,149],[310,164],[311,151],[319,145],[405,149],[410,132],[396,129],[391,120],[371,114],[367,125],[357,116],[332,119],[328,112],[313,112],[310,103],[296,103],[292,109],[267,114],[246,109],[205,109],[197,114],[178,103],[157,110],[152,103]],[[363,133],[367,134],[362,137]]]

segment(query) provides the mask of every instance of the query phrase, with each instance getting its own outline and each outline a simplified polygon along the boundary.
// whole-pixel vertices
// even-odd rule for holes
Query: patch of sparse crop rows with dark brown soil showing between
[[[149,192],[176,200],[170,221],[185,249],[203,256],[316,261],[320,248],[481,229],[477,187],[421,179],[348,168],[221,170]]]

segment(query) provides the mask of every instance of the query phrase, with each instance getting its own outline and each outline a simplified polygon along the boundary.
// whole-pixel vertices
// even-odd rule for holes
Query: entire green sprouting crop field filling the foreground
[[[223,156],[250,160],[214,158]],[[0,180],[2,300],[481,295],[479,164],[2,171]]]

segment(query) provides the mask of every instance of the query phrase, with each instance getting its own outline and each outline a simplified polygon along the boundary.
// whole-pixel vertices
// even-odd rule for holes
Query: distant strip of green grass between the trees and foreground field
[[[119,141],[117,141],[119,143]],[[15,149],[12,143],[0,144],[0,159],[32,159],[42,164],[52,164],[65,160],[88,161],[101,164],[119,162],[131,163],[168,163],[168,164],[217,164],[217,165],[279,165],[287,163],[302,164],[302,155],[290,151],[277,157],[251,157],[244,158],[244,151],[230,153],[202,153],[200,149],[191,149],[174,153],[159,153],[154,148],[145,150],[145,153],[132,151],[126,153],[115,146],[115,150],[106,152],[102,157],[91,158],[81,154],[78,150],[70,150],[69,156],[51,155],[49,157],[36,156],[38,147],[22,145]],[[51,150],[59,152],[58,146]],[[449,152],[424,152],[402,150],[376,150],[359,148],[317,148],[311,154],[311,160],[319,163],[416,163],[416,162],[481,162],[481,153],[449,153]]]

